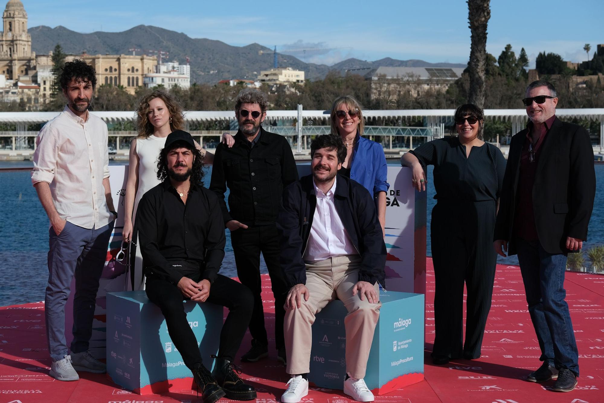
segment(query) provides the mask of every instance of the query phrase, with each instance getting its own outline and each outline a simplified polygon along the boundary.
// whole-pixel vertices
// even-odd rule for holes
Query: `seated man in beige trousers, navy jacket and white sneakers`
[[[310,145],[312,175],[283,192],[277,228],[281,267],[290,287],[285,304],[287,372],[281,396],[297,403],[308,394],[312,324],[327,303],[341,300],[348,315],[344,393],[373,401],[365,369],[379,318],[386,247],[374,200],[359,183],[336,175],[346,156],[338,136],[318,136]]]

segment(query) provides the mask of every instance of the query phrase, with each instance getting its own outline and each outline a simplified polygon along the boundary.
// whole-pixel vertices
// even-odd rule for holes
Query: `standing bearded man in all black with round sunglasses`
[[[268,97],[255,88],[245,88],[236,99],[239,131],[235,144],[216,148],[210,190],[216,192],[225,221],[231,230],[231,244],[242,284],[254,294],[254,311],[249,323],[252,347],[242,361],[268,356],[268,336],[260,292],[260,252],[271,276],[275,297],[275,344],[277,359],[285,361],[283,304],[288,292],[279,265],[279,239],[275,220],[283,188],[298,180],[294,155],[285,137],[269,133],[261,124],[266,118]],[[224,194],[230,190],[229,208]]]

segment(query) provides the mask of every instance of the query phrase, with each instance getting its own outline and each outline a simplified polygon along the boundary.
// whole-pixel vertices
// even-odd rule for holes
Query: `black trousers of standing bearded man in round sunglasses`
[[[237,229],[231,232],[231,243],[237,264],[237,276],[254,295],[254,312],[249,322],[249,333],[256,341],[268,345],[268,336],[262,308],[262,283],[260,281],[260,252],[265,258],[266,268],[271,277],[272,295],[275,298],[275,347],[285,347],[283,338],[283,318],[285,297],[289,291],[285,283],[279,255],[279,235],[275,224]]]

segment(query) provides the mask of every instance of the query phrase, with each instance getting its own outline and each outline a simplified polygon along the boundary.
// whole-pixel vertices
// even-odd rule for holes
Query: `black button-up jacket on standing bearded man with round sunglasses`
[[[283,188],[298,180],[292,148],[285,137],[260,126],[253,147],[237,132],[232,148],[216,148],[210,190],[216,192],[224,223],[237,220],[248,226],[274,224]],[[231,193],[226,208],[226,187]]]

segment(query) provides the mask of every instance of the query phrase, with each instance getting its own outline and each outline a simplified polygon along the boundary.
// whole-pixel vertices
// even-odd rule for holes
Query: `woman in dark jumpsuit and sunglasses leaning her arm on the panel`
[[[413,186],[420,191],[426,186],[425,166],[434,165],[434,364],[479,358],[489,315],[496,263],[493,232],[506,160],[500,149],[481,139],[483,120],[480,108],[461,105],[455,111],[457,137],[423,143],[401,158],[403,166],[413,168]]]

